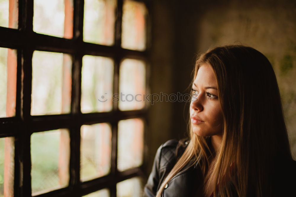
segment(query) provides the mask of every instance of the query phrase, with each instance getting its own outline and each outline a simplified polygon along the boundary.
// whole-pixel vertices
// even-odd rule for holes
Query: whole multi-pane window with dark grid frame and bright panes
[[[139,196],[148,10],[0,0],[0,196]]]

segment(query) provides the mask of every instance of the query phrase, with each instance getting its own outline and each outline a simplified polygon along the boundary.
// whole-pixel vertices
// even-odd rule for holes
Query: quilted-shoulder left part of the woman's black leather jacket
[[[177,140],[169,140],[158,148],[151,174],[144,187],[144,197],[154,197],[156,195],[161,183],[176,164],[177,159],[183,154],[186,146],[186,141],[178,143]],[[168,182],[161,195],[162,197],[195,195],[196,186],[200,185],[202,176],[197,165],[189,166],[190,164]]]

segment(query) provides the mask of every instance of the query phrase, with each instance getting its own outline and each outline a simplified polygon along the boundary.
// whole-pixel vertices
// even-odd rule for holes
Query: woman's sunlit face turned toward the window
[[[190,118],[193,133],[199,136],[222,135],[223,116],[217,81],[212,67],[202,64],[192,85]]]

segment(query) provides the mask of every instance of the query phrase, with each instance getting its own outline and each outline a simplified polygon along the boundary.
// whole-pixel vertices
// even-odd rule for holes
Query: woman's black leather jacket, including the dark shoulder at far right
[[[152,171],[144,187],[144,197],[156,195],[161,183],[176,164],[177,159],[183,154],[186,146],[187,141],[169,140],[158,148]],[[197,164],[189,166],[190,163],[168,182],[161,197],[202,196],[197,192],[203,185],[200,167]],[[273,196],[296,196],[296,162],[294,160],[285,162],[281,168],[272,176],[275,181],[271,187],[274,191]],[[237,193],[233,192],[230,196],[237,196]]]

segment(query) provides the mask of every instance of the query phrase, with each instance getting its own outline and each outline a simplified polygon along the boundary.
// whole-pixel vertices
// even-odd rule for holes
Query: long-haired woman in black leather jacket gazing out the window
[[[232,45],[199,57],[189,131],[157,150],[144,196],[296,196],[276,76],[259,51]]]

